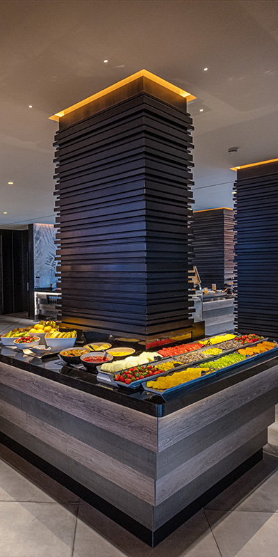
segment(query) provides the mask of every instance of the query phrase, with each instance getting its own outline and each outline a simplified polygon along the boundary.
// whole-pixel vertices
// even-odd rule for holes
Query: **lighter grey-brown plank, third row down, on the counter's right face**
[[[224,439],[220,439],[217,443],[203,450],[202,453],[170,471],[163,478],[159,478],[156,481],[156,505],[168,499],[186,484],[201,476],[207,469],[215,466],[224,457],[233,453],[234,450],[244,444],[245,439],[250,439],[256,433],[265,430],[274,421],[273,414],[273,408],[266,410],[242,427],[238,427],[238,430],[227,435]]]

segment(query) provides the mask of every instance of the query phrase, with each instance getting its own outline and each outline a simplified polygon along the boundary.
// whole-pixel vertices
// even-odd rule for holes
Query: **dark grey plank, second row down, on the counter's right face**
[[[272,389],[261,397],[252,400],[247,405],[240,406],[236,410],[230,412],[223,418],[220,417],[213,423],[210,423],[197,430],[192,435],[188,435],[181,439],[175,445],[172,445],[161,453],[157,453],[156,459],[156,478],[165,476],[171,470],[177,468],[183,462],[195,457],[202,450],[212,446],[220,439],[223,439],[231,432],[234,432],[241,425],[255,418],[260,412],[274,407],[277,402],[277,389]],[[273,415],[273,421],[275,417]]]

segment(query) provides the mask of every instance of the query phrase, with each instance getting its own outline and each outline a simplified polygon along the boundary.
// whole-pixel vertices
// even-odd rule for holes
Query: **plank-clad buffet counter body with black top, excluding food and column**
[[[168,395],[0,349],[1,441],[154,546],[261,458],[278,349]]]

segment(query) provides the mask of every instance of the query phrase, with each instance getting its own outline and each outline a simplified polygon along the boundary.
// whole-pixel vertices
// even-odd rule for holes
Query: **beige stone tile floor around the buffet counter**
[[[263,460],[154,549],[0,445],[0,557],[143,556],[278,557],[278,421]]]

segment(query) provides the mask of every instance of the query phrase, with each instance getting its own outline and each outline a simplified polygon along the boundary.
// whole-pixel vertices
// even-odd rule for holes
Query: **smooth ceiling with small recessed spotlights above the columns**
[[[142,68],[197,96],[195,210],[232,206],[230,166],[278,157],[276,0],[5,0],[0,37],[1,228],[54,222],[48,116]]]

